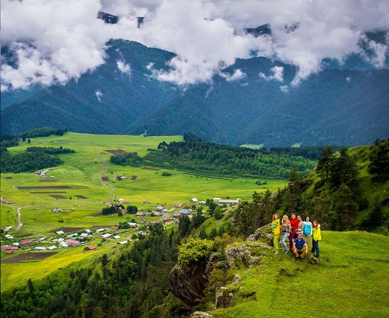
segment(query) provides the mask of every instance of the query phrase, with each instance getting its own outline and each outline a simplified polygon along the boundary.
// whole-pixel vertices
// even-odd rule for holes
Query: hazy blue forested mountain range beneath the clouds
[[[384,33],[369,36],[383,41]],[[167,69],[174,53],[122,39],[107,46],[106,63],[77,80],[2,92],[1,133],[47,126],[95,134],[191,132],[267,148],[370,144],[389,135],[389,69],[357,55],[343,64],[323,61],[320,72],[295,87],[285,85],[295,67],[263,57],[238,59],[211,82],[182,87],[157,80],[151,70]],[[2,48],[2,60],[9,56]],[[283,68],[282,81],[271,77],[275,66]],[[244,75],[232,80],[236,70]]]

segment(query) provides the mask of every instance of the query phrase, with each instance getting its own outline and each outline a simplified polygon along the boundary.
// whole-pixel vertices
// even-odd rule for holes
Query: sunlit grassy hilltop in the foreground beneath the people
[[[323,232],[320,264],[271,251],[260,266],[234,269],[242,289],[214,317],[384,317],[389,315],[389,238]],[[255,292],[255,296],[242,295]],[[214,306],[214,304],[212,304]],[[210,305],[211,309],[211,305]]]

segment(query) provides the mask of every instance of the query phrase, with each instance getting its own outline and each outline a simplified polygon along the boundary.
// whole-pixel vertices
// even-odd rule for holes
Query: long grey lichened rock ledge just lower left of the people
[[[258,265],[261,262],[262,256],[253,256],[253,247],[261,247],[265,249],[271,248],[270,246],[261,243],[247,243],[230,247],[224,251],[224,259],[227,264],[227,268],[231,268],[236,260],[241,261],[246,267]]]

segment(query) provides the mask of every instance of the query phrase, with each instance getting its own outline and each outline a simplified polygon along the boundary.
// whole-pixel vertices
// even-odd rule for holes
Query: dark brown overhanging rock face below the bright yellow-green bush
[[[205,276],[207,260],[192,261],[186,266],[176,264],[169,275],[170,290],[189,306],[199,303],[204,297],[204,289],[208,282]]]

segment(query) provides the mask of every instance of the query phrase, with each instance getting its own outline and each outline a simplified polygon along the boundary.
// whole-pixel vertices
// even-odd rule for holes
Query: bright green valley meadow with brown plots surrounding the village
[[[258,186],[255,179],[218,179],[196,176],[190,172],[168,170],[171,176],[162,176],[164,170],[148,170],[145,167],[116,166],[110,163],[110,149],[123,149],[127,152],[138,152],[144,156],[148,149],[156,149],[158,144],[181,141],[182,136],[118,136],[90,135],[66,133],[63,136],[31,138],[31,143],[20,142],[17,147],[8,148],[11,154],[24,151],[28,146],[59,147],[74,149],[75,153],[61,154],[64,164],[48,170],[46,178],[40,178],[32,173],[1,174],[1,196],[11,201],[11,204],[0,204],[0,226],[12,226],[9,232],[13,236],[25,235],[24,238],[53,237],[51,231],[61,227],[88,228],[92,226],[112,226],[119,222],[130,221],[132,215],[118,217],[93,216],[102,207],[115,199],[124,198],[130,205],[136,205],[139,210],[154,210],[157,205],[165,204],[169,212],[173,212],[172,202],[188,203],[192,197],[205,200],[212,197],[251,199],[254,190],[271,191],[283,187],[284,180],[266,180],[267,184]],[[146,167],[147,168],[147,167]],[[116,176],[126,176],[128,179],[117,181]],[[131,180],[131,176],[136,176]],[[108,177],[103,181],[102,177]],[[26,186],[71,186],[66,189],[18,189]],[[37,193],[32,193],[37,192]],[[58,192],[58,193],[44,193]],[[65,198],[54,198],[51,195],[62,195]],[[87,197],[77,198],[76,195]],[[148,201],[150,203],[143,203]],[[127,204],[124,204],[127,205]],[[53,213],[52,209],[59,207],[64,213]],[[18,226],[17,209],[20,208],[23,228]],[[158,218],[149,218],[158,220]],[[60,221],[60,222],[59,222]],[[63,221],[63,222],[62,222]],[[120,233],[119,233],[120,235]],[[94,235],[93,243],[101,241]],[[98,239],[99,238],[99,239]],[[20,240],[3,240],[2,245],[12,244]],[[39,243],[40,246],[52,245],[50,242]],[[66,248],[46,259],[39,261],[23,261],[19,263],[2,263],[1,290],[8,290],[16,285],[24,284],[29,278],[41,278],[59,268],[71,263],[82,264],[88,258],[117,246],[115,242],[105,242],[97,250],[83,252],[82,247]],[[17,252],[11,256],[18,254]],[[41,252],[40,252],[41,253]],[[10,257],[4,252],[1,259]],[[39,274],[37,274],[39,272]]]

